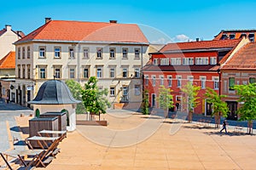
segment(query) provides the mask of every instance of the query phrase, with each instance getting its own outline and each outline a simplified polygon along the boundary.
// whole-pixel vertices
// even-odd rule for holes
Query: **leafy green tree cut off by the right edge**
[[[237,110],[241,121],[248,122],[249,133],[253,132],[253,120],[256,119],[256,83],[235,85],[236,94],[240,95],[238,102],[243,105]]]

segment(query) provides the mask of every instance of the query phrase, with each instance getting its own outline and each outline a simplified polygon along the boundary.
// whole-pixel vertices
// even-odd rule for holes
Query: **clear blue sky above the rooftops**
[[[162,34],[167,41],[195,40],[196,37],[209,40],[223,29],[255,29],[255,8],[253,0],[12,0],[1,2],[0,29],[11,25],[15,31],[28,34],[44,25],[45,17],[100,22],[118,20],[154,29],[149,31],[151,35]]]

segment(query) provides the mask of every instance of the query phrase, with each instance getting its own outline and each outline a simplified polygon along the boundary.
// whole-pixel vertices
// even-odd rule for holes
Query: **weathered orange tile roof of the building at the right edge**
[[[247,43],[224,64],[222,69],[256,70],[256,43]]]

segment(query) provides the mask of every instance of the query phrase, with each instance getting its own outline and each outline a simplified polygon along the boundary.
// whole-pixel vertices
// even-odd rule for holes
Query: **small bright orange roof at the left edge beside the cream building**
[[[15,69],[15,52],[10,51],[0,60],[0,69]]]

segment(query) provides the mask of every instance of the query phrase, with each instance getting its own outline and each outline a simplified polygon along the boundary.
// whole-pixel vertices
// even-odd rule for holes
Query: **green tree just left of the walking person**
[[[215,92],[212,88],[207,88],[205,97],[207,99],[207,103],[212,104],[212,116],[215,117],[215,127],[219,127],[220,113],[222,113],[222,116],[224,117],[227,117],[229,113],[229,107],[227,103],[222,100],[226,96],[218,95],[217,92]]]

